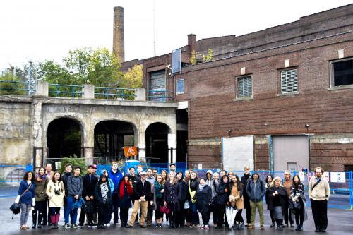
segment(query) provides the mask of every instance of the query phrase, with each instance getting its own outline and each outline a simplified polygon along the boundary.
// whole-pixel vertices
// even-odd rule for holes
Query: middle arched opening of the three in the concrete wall
[[[126,121],[101,121],[95,126],[95,157],[124,157],[124,146],[135,145],[136,127]]]

